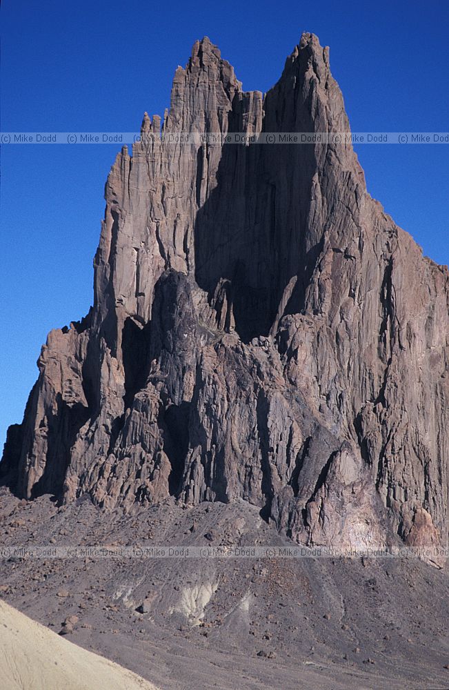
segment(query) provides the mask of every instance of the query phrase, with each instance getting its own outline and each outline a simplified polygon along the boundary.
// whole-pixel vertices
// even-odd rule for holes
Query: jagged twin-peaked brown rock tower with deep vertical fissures
[[[163,130],[349,125],[303,34],[265,97],[195,43]],[[14,491],[243,499],[312,544],[446,544],[449,274],[368,195],[350,144],[123,147],[94,268],[93,308],[50,333],[8,433]]]

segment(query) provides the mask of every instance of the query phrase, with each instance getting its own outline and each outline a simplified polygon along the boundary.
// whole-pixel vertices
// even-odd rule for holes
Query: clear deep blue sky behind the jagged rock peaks
[[[263,0],[3,0],[2,131],[135,131],[163,114],[203,35],[266,91],[303,31],[330,46],[353,131],[449,130],[449,5]],[[449,146],[356,146],[368,190],[449,263]],[[51,328],[92,304],[103,187],[117,145],[2,146],[0,445]]]

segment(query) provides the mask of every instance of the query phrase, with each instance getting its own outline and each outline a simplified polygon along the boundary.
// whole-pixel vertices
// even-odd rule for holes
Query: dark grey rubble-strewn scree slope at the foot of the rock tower
[[[243,501],[123,515],[1,491],[4,546],[292,544]],[[449,579],[419,560],[12,557],[0,576],[5,602],[58,644],[163,689],[449,687]]]

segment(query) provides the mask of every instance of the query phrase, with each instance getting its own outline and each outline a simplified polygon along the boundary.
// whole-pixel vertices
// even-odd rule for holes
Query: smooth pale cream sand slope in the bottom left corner
[[[77,647],[0,600],[5,690],[156,690],[119,664]]]

